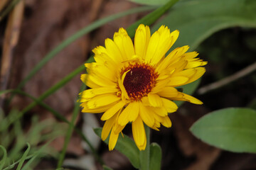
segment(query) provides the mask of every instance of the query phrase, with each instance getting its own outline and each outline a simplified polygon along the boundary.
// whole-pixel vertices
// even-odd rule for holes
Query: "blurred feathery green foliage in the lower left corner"
[[[44,145],[46,142],[64,135],[65,126],[55,123],[54,120],[39,121],[38,116],[34,115],[31,118],[31,125],[23,124],[21,120],[16,120],[11,124],[10,128],[4,128],[5,125],[9,125],[8,122],[14,119],[17,114],[18,111],[15,109],[5,117],[3,111],[0,113],[0,144],[3,151],[0,152],[1,166],[4,169],[13,169],[20,162],[24,162],[25,159],[33,159],[33,162],[27,167],[31,169],[38,164],[42,156],[56,157],[58,153]],[[26,123],[28,122],[27,120]],[[30,128],[24,130],[28,126]],[[28,149],[24,151],[27,144]],[[7,153],[6,158],[4,158],[5,152]]]

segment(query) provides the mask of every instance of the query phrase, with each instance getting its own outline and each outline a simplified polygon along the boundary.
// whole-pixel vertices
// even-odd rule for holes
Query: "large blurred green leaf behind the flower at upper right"
[[[194,50],[213,33],[234,26],[256,27],[255,0],[199,0],[179,3],[152,30],[161,25],[179,30],[174,47]]]

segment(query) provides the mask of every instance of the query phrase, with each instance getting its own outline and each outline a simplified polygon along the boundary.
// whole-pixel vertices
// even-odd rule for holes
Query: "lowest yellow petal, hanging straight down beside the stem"
[[[132,135],[134,137],[134,142],[136,143],[139,150],[144,150],[146,145],[146,132],[144,129],[144,123],[142,122],[142,118],[139,116],[132,123]]]

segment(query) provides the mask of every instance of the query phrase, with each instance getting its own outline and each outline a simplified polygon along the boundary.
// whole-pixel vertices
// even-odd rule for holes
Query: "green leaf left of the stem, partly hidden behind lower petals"
[[[95,128],[94,131],[99,137],[101,137],[102,128]],[[108,144],[108,141],[109,137],[107,137],[107,140],[104,142]],[[139,149],[131,138],[127,137],[127,135],[124,135],[124,137],[119,135],[117,145],[114,149],[117,149],[119,152],[124,154],[129,159],[132,166],[139,169]]]

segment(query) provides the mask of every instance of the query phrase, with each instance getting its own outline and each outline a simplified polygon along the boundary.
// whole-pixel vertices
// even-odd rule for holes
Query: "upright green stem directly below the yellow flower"
[[[144,125],[146,131],[146,148],[144,151],[139,152],[139,162],[141,165],[140,170],[149,170],[149,157],[150,157],[150,129]]]

